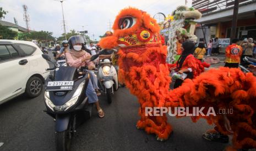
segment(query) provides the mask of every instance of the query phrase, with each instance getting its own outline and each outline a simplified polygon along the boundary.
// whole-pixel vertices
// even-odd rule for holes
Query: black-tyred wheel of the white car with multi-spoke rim
[[[42,80],[39,77],[31,77],[26,83],[25,93],[28,97],[37,97],[41,94],[43,89]]]

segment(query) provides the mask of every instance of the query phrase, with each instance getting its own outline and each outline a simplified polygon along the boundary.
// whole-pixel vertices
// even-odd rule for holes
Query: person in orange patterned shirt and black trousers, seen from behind
[[[233,39],[232,44],[226,48],[226,63],[224,67],[238,68],[242,55],[242,47],[237,44],[239,40]]]

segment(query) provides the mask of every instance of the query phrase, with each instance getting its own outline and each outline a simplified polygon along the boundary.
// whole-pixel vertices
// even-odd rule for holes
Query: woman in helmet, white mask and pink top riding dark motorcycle
[[[66,51],[65,54],[69,66],[77,68],[87,66],[90,70],[95,68],[94,63],[90,61],[91,55],[89,53],[86,53],[86,51],[84,50],[85,46],[83,37],[72,36],[69,38],[68,43],[70,51]],[[92,76],[90,77],[92,78]],[[92,79],[89,80],[88,87],[86,89],[86,96],[88,96],[89,103],[95,103],[99,117],[103,118],[105,113],[100,107],[100,103],[98,101],[97,94],[91,80]]]

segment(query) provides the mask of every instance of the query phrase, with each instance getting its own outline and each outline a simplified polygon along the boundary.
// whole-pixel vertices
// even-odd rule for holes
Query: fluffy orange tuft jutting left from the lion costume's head
[[[102,38],[99,42],[99,45],[102,49],[112,49],[118,46],[117,40],[118,39],[116,36],[108,36]]]

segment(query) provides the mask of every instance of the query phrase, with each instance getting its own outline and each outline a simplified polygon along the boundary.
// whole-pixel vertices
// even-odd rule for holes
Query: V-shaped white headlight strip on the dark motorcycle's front
[[[78,101],[81,91],[83,90],[84,83],[85,83],[85,81],[83,81],[82,83],[79,84],[77,90],[75,90],[75,92],[74,92],[73,96],[70,98],[70,100],[62,106],[55,106],[52,103],[52,101],[50,100],[49,92],[46,91],[45,92],[45,102],[46,102],[47,106],[52,111],[54,111],[53,108],[56,109],[57,111],[67,111],[67,109],[72,107]]]

